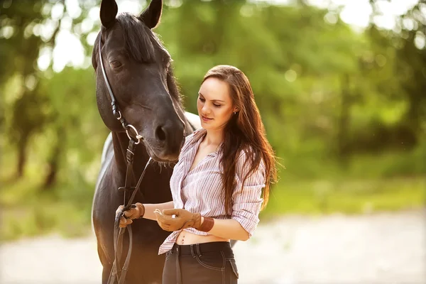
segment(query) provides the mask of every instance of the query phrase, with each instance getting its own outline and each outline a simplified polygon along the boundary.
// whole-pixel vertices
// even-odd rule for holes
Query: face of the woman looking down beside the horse
[[[207,78],[198,92],[197,111],[203,129],[223,129],[236,111],[228,83],[215,77]]]

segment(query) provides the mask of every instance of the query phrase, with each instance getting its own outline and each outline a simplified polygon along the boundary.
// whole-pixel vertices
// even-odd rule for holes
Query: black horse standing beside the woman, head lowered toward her
[[[107,283],[114,262],[114,217],[124,202],[124,192],[118,188],[126,180],[129,138],[135,134],[140,134],[136,139],[141,138],[131,167],[132,186],[148,159],[155,161],[148,165],[133,202],[162,203],[172,200],[169,180],[185,135],[200,127],[198,116],[183,110],[170,55],[151,31],[157,26],[162,9],[162,1],[153,0],[140,16],[117,16],[114,0],[103,0],[101,4],[102,27],[94,44],[92,65],[97,75],[99,114],[111,134],[102,153],[92,222],[103,266],[102,283]],[[134,126],[131,133],[124,130],[127,124]],[[146,219],[135,220],[131,228],[133,249],[126,283],[161,283],[164,257],[158,256],[158,248],[170,233]],[[125,234],[120,266],[128,249],[129,236]]]

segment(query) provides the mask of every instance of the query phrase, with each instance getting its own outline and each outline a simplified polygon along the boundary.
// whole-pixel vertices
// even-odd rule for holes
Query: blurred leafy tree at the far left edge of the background
[[[11,142],[18,148],[18,178],[23,175],[28,141],[33,133],[43,128],[45,121],[45,115],[41,111],[43,97],[38,93],[38,72],[35,67],[43,40],[33,33],[35,25],[44,19],[41,10],[45,2],[1,3],[0,21],[4,23],[4,33],[0,38],[0,84],[16,76],[22,86],[15,94],[6,130]]]

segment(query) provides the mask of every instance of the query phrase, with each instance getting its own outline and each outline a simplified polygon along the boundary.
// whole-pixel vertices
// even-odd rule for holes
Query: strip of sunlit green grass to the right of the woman
[[[422,208],[426,201],[426,180],[388,178],[381,180],[315,180],[289,182],[273,189],[262,216],[282,214],[360,214]]]

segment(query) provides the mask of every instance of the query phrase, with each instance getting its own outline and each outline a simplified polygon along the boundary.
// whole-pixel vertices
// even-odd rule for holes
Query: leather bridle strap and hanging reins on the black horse
[[[105,72],[104,63],[102,62],[102,33],[99,36],[99,62],[100,62],[100,65],[101,65],[102,74],[104,75],[105,84],[107,85],[109,96],[111,97],[112,113],[114,114],[115,118],[120,121],[121,126],[123,126],[123,129],[126,131],[126,134],[129,137],[129,146],[127,146],[127,151],[126,151],[126,161],[127,161],[126,181],[124,182],[124,187],[119,187],[119,190],[124,191],[123,204],[126,204],[126,192],[133,190],[133,193],[132,193],[131,197],[129,198],[129,201],[127,202],[126,206],[123,209],[121,209],[121,211],[119,211],[118,214],[116,214],[116,217],[115,217],[115,220],[114,220],[114,252],[115,252],[115,256],[114,256],[114,263],[112,264],[111,273],[109,273],[109,278],[108,278],[108,284],[114,284],[116,280],[119,284],[122,284],[122,283],[124,283],[124,280],[126,279],[126,273],[127,273],[128,268],[129,268],[129,262],[130,262],[130,257],[131,257],[131,249],[132,249],[132,243],[133,243],[133,236],[132,236],[132,231],[131,231],[130,225],[126,226],[126,228],[120,228],[120,226],[119,226],[120,219],[121,219],[121,217],[126,218],[124,216],[124,212],[131,209],[132,202],[133,202],[133,200],[136,196],[136,192],[138,192],[138,189],[141,186],[143,175],[145,175],[146,168],[148,168],[148,165],[151,163],[152,159],[150,157],[148,162],[146,163],[145,168],[143,169],[143,172],[141,174],[141,177],[139,177],[139,180],[136,183],[136,186],[131,187],[130,183],[131,183],[131,179],[132,179],[132,176],[133,176],[133,171],[132,171],[133,156],[135,155],[134,153],[135,153],[136,145],[138,145],[138,143],[141,142],[141,139],[143,140],[143,137],[138,133],[138,131],[136,130],[136,128],[133,125],[127,123],[126,119],[124,119],[124,117],[121,115],[119,107],[116,104],[116,99],[115,99],[114,94],[112,92],[111,86],[109,85],[107,72]],[[133,139],[133,137],[131,137],[131,135],[129,134],[129,130],[131,130],[135,133],[135,138],[137,140],[135,140],[135,139]],[[134,205],[133,205],[133,207],[134,207]],[[124,261],[123,268],[120,268],[119,267],[119,261],[121,259],[121,252],[123,250],[123,235],[124,235],[124,231],[126,229],[129,231],[129,251],[127,252],[127,256],[126,256],[126,260]]]

